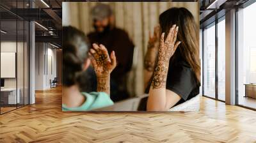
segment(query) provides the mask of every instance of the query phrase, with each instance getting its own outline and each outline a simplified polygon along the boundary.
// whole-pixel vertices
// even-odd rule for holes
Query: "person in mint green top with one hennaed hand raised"
[[[109,84],[110,73],[116,66],[115,52],[109,56],[104,45],[93,44],[93,49],[89,45],[82,31],[71,26],[63,27],[63,111],[93,110],[113,105]],[[97,75],[97,92],[81,93],[78,81],[91,61]]]

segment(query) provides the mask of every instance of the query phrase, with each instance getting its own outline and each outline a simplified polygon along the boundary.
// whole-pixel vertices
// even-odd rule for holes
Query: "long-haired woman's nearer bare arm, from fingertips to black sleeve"
[[[170,90],[166,90],[169,61],[180,44],[180,41],[176,42],[178,28],[179,27],[173,25],[165,41],[164,33],[161,35],[158,60],[148,93],[147,110],[168,110],[180,100],[179,95]]]

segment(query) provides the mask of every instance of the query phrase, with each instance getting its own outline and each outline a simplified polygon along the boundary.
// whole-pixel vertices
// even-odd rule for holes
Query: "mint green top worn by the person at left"
[[[113,105],[109,95],[104,92],[81,93],[86,100],[80,107],[67,107],[62,104],[63,111],[88,111]]]

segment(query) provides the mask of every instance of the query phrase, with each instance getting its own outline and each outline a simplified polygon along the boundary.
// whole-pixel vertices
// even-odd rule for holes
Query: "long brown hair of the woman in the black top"
[[[168,33],[173,24],[179,26],[177,41],[181,41],[181,43],[178,49],[181,56],[195,72],[198,82],[200,82],[199,29],[193,15],[186,8],[170,8],[161,13],[159,24],[162,33]],[[175,58],[175,55],[173,58]]]

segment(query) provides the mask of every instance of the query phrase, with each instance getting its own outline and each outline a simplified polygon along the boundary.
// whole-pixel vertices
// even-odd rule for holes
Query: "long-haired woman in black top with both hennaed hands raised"
[[[169,110],[195,97],[200,87],[199,34],[193,15],[186,8],[170,8],[159,16],[159,25],[145,57],[148,111]]]

